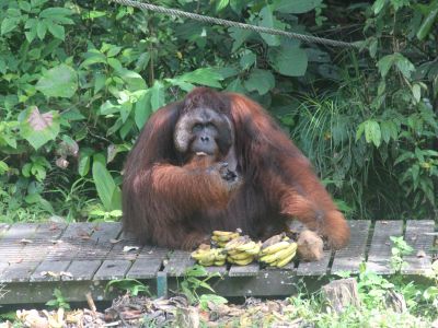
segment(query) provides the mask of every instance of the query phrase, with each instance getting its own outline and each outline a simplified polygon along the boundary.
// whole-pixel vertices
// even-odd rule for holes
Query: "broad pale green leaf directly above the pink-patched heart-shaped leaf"
[[[45,71],[35,87],[48,97],[69,98],[78,89],[78,73],[71,67],[61,63]]]

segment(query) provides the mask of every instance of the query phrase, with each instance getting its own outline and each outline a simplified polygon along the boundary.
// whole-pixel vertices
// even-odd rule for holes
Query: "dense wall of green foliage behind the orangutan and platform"
[[[365,35],[369,51],[102,1],[0,1],[0,181],[12,192],[1,218],[118,218],[120,172],[139,130],[196,85],[262,103],[348,215],[433,213],[438,0],[164,5],[345,40]]]

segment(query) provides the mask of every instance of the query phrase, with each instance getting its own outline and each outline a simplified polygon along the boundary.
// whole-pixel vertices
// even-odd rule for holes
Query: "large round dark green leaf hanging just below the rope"
[[[268,60],[277,72],[287,77],[302,77],[308,69],[308,55],[298,44],[270,48]]]

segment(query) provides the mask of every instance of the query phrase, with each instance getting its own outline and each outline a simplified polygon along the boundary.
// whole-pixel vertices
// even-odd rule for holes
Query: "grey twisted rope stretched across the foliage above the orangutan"
[[[323,38],[323,37],[318,37],[318,36],[312,36],[312,35],[304,35],[304,34],[299,34],[299,33],[293,33],[293,32],[286,32],[286,31],[281,31],[281,30],[270,28],[270,27],[255,26],[255,25],[239,23],[239,22],[234,22],[234,21],[228,21],[228,20],[211,17],[211,16],[206,16],[206,15],[199,15],[199,14],[195,14],[192,12],[186,12],[186,11],[182,11],[182,10],[177,10],[177,9],[169,9],[169,8],[164,8],[161,5],[155,5],[155,4],[145,3],[145,2],[138,2],[138,1],[132,1],[132,0],[111,0],[111,1],[123,4],[123,5],[135,7],[135,8],[142,9],[142,10],[160,12],[160,13],[171,15],[171,16],[186,17],[186,19],[191,19],[191,20],[195,20],[195,21],[200,21],[200,22],[205,22],[205,23],[211,23],[211,24],[222,25],[222,26],[228,26],[228,27],[239,27],[239,28],[243,28],[243,30],[254,31],[257,33],[281,35],[281,36],[286,36],[289,38],[296,38],[296,39],[302,40],[308,44],[315,43],[315,44],[328,45],[328,46],[333,46],[333,47],[359,48],[359,46],[357,44],[338,42],[338,40],[333,40],[333,39],[328,39],[328,38]]]

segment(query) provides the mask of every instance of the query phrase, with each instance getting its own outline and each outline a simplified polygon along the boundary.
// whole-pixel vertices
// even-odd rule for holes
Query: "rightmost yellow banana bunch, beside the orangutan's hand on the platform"
[[[270,237],[262,244],[258,260],[269,267],[283,268],[289,263],[297,251],[293,243],[285,234]]]

